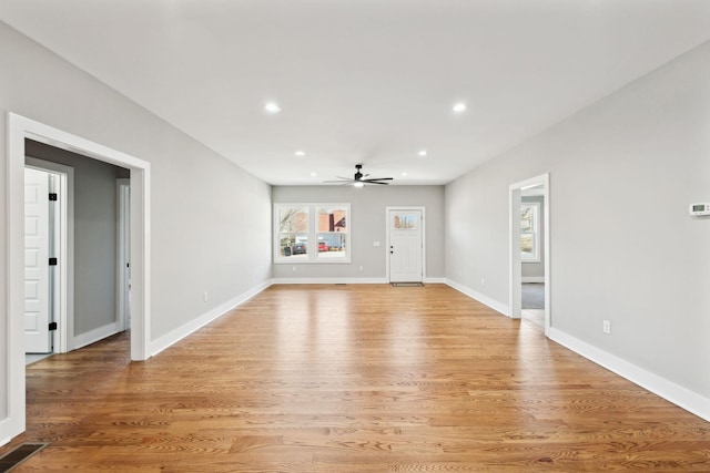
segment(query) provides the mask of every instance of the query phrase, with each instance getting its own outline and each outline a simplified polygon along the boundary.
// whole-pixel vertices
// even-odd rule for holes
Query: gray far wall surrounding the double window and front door
[[[385,278],[385,208],[423,206],[426,218],[426,277],[444,277],[444,186],[274,186],[274,203],[349,203],[351,264],[274,265],[277,278]],[[382,246],[374,247],[374,241]],[[359,267],[363,266],[363,270]]]

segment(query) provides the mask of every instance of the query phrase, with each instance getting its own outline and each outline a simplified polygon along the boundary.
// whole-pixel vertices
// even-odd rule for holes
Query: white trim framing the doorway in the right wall
[[[523,285],[523,268],[521,268],[521,258],[520,258],[520,194],[524,189],[530,187],[542,186],[542,228],[545,233],[545,245],[544,245],[544,264],[545,264],[545,335],[548,336],[549,329],[552,323],[551,319],[551,275],[550,275],[550,175],[549,173],[541,174],[539,176],[531,177],[529,179],[525,179],[515,184],[510,184],[509,186],[509,213],[508,213],[508,222],[509,225],[509,248],[510,248],[510,288],[509,288],[509,308],[510,308],[510,317],[514,319],[519,319],[521,317],[521,285]]]

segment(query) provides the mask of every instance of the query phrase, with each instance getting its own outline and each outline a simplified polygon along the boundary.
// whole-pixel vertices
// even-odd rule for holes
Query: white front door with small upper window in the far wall
[[[422,282],[423,213],[420,209],[389,209],[389,281]]]

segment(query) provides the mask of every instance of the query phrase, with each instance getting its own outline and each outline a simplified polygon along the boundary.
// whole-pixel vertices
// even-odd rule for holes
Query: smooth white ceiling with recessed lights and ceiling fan
[[[357,163],[450,182],[710,39],[707,0],[0,0],[0,19],[277,185]]]

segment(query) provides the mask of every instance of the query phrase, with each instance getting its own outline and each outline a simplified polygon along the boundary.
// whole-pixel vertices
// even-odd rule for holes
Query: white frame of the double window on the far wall
[[[288,208],[305,208],[308,212],[308,228],[306,233],[307,253],[304,257],[293,258],[293,255],[281,254],[281,212]],[[343,257],[324,258],[318,251],[318,235],[331,232],[318,230],[318,212],[323,208],[342,208],[345,210],[345,232],[334,232],[345,237],[345,255]],[[274,203],[273,206],[273,261],[275,265],[338,265],[352,263],[352,212],[349,203]]]

